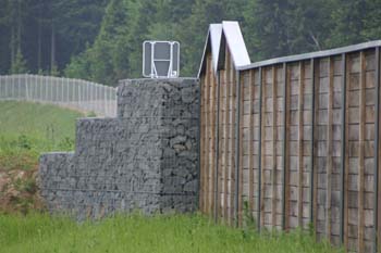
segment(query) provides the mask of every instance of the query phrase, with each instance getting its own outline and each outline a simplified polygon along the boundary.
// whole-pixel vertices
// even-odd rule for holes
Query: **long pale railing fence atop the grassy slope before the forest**
[[[97,116],[116,116],[116,88],[96,83],[39,75],[0,76],[0,101],[51,103]]]

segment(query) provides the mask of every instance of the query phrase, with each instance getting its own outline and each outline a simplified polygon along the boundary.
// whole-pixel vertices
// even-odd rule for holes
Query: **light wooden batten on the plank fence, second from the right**
[[[332,121],[333,121],[333,59],[329,59],[329,84],[328,84],[328,124],[327,124],[327,199],[325,199],[325,235],[331,241],[331,194],[332,194]]]

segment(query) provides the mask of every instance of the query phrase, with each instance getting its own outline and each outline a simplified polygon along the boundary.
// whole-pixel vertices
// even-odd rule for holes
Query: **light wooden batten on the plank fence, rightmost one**
[[[358,151],[358,252],[364,252],[364,178],[365,178],[365,55],[360,52],[359,151]]]

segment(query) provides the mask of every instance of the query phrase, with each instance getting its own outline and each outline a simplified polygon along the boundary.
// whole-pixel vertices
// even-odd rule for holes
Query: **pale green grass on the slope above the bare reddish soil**
[[[0,169],[28,170],[42,152],[73,150],[81,116],[52,105],[0,102]]]

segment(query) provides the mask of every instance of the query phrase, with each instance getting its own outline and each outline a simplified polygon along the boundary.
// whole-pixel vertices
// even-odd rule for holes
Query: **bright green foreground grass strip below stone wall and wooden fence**
[[[263,233],[213,225],[200,215],[119,215],[77,224],[44,214],[0,216],[1,252],[336,253],[308,233]]]

